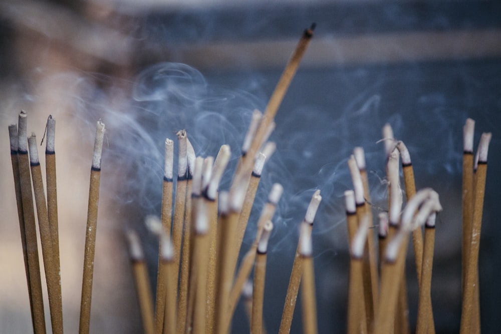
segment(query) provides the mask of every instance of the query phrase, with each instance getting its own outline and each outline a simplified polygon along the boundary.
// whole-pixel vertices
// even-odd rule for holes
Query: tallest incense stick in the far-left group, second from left
[[[18,161],[19,179],[23,203],[24,228],[30,271],[30,289],[32,295],[33,327],[36,333],[45,333],[44,301],[42,296],[42,281],[40,278],[40,263],[38,255],[37,227],[35,226],[35,211],[30,176],[30,161],[28,158],[27,114],[21,111],[18,126]]]

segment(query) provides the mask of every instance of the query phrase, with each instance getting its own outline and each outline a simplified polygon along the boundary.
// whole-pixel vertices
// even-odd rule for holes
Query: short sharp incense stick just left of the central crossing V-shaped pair
[[[252,322],[250,332],[261,334],[263,328],[263,301],[265,296],[266,257],[268,240],[273,229],[273,223],[269,220],[264,228],[258,243],[256,264],[254,266],[254,286],[252,294]]]

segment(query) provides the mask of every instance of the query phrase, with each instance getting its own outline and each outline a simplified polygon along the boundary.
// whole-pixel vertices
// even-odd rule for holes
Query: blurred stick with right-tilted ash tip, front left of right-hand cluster
[[[369,218],[366,213],[350,242],[350,283],[348,290],[348,333],[367,333],[363,281],[363,256],[366,244]]]

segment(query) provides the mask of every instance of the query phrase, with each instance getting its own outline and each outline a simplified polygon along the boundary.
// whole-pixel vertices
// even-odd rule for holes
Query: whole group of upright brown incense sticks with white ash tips
[[[196,156],[187,132],[185,130],[177,132],[179,154],[177,182],[174,189],[174,141],[165,140],[160,218],[146,219],[147,227],[159,239],[155,296],[152,295],[149,285],[139,236],[135,231],[127,231],[125,234],[130,245],[132,272],[144,332],[227,333],[231,329],[235,305],[241,294],[248,309],[250,331],[253,333],[265,331],[263,305],[267,250],[273,229],[275,208],[283,191],[280,184],[273,186],[259,220],[252,222],[256,225],[256,238],[239,266],[237,266],[237,255],[241,248],[243,233],[249,223],[249,213],[254,206],[265,162],[275,149],[273,143],[267,144],[268,137],[275,127],[273,118],[312,37],[313,28],[314,26],[307,29],[301,38],[265,113],[256,111],[253,114],[229,191],[218,189],[230,159],[228,145],[221,146],[215,159],[212,156],[203,158]],[[462,333],[479,331],[480,325],[478,250],[487,152],[491,138],[490,133],[482,134],[476,157],[473,158],[473,126],[474,122],[468,119],[464,127]],[[47,131],[46,199],[35,134],[27,138],[27,114],[22,111],[19,115],[19,125],[9,127],[11,160],[34,332],[46,332],[36,208],[52,328],[54,332],[62,333],[55,120],[52,117],[49,117]],[[104,124],[98,121],[90,171],[80,333],[90,331],[104,132]],[[434,332],[430,286],[435,219],[442,207],[438,194],[431,188],[416,191],[410,153],[402,141],[393,139],[393,131],[389,125],[385,126],[383,136],[389,187],[388,212],[378,216],[379,243],[374,240],[374,219],[369,204],[370,189],[363,149],[356,148],[354,155],[348,160],[354,189],[345,192],[351,255],[347,329],[350,333],[411,331],[406,296],[405,261],[409,237],[412,234],[419,285],[416,331]],[[403,210],[399,160],[402,164],[406,193]],[[290,332],[300,287],[304,332],[318,331],[312,230],[321,200],[320,191],[315,191],[305,218],[299,222],[298,247],[285,297],[280,333]],[[248,278],[253,267],[254,281],[250,283]]]

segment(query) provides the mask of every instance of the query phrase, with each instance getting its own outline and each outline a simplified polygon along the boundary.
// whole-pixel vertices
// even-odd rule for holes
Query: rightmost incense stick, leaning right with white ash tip
[[[464,295],[461,312],[461,333],[469,333],[472,328],[473,304],[475,286],[478,284],[478,251],[480,246],[480,232],[482,226],[483,198],[485,193],[485,177],[487,174],[487,153],[491,138],[490,133],[482,133],[478,144],[474,194],[473,218],[471,224],[470,246],[464,281]]]

